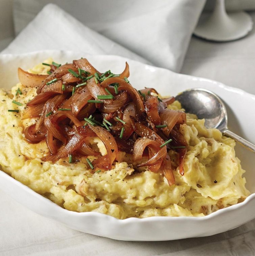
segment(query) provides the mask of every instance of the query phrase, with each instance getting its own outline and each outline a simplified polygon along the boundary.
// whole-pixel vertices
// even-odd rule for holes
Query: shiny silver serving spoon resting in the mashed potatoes
[[[227,110],[222,100],[213,92],[195,88],[181,92],[175,97],[187,113],[196,114],[205,119],[206,128],[217,128],[225,136],[233,138],[255,153],[255,145],[228,130]]]

